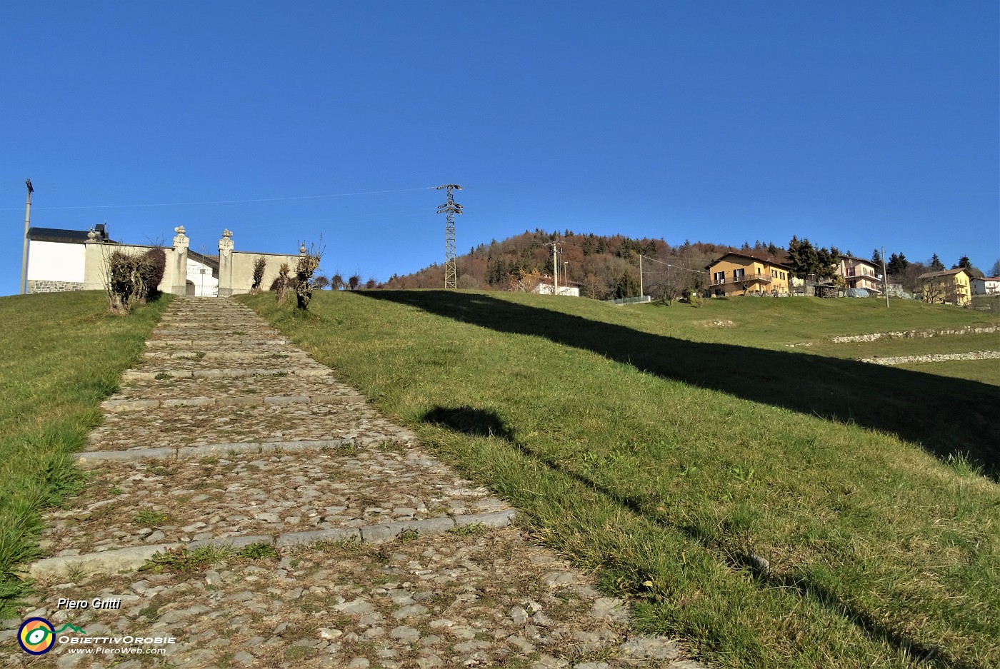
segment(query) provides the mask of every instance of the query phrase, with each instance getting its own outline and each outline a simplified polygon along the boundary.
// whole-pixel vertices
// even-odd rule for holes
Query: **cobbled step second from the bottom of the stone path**
[[[67,556],[509,508],[415,446],[236,454],[226,446],[198,458],[100,461],[68,509],[46,514],[42,548]]]

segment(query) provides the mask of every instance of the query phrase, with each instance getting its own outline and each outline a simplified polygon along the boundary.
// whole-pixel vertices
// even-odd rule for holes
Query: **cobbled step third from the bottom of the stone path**
[[[208,399],[208,398],[206,398]],[[409,439],[412,432],[367,404],[158,406],[109,413],[87,437],[89,451],[178,448],[233,442]]]

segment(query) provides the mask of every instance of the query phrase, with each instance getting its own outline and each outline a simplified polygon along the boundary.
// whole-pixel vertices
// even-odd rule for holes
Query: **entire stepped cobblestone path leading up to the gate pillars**
[[[3,666],[702,667],[250,309],[177,299],[147,344],[80,456],[92,483],[48,514],[37,594],[0,621]],[[85,634],[33,659],[34,616]]]

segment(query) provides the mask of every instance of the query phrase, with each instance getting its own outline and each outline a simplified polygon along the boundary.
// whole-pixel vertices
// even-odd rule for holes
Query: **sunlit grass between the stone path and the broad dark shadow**
[[[524,510],[543,540],[597,571],[609,592],[635,601],[638,629],[680,636],[702,659],[741,669],[985,669],[1000,660],[989,513],[1000,497],[975,468],[894,435],[374,297],[323,294],[305,317],[270,295],[246,301]],[[456,313],[492,299],[466,294]],[[511,299],[545,318],[544,297]],[[594,313],[627,314],[602,306]],[[596,391],[577,378],[584,367],[600,375]],[[658,413],[644,415],[642,398],[657,393]],[[717,420],[698,423],[706,406]],[[595,421],[602,431],[588,441]],[[646,443],[664,429],[667,441]],[[683,439],[698,431],[725,448],[692,455]],[[786,443],[801,462],[777,452]],[[845,471],[852,465],[859,471]],[[756,536],[763,530],[772,536]],[[774,535],[785,533],[797,552],[782,553]]]

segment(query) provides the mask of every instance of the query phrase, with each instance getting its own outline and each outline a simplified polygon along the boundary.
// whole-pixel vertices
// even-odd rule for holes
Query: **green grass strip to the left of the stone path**
[[[0,297],[0,618],[23,592],[12,570],[38,555],[41,511],[82,483],[70,454],[167,300],[122,318],[102,292]]]

